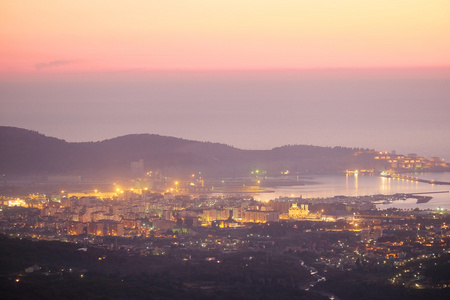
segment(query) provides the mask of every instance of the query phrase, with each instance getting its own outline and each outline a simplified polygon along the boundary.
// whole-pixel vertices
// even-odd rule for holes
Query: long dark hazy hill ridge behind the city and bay
[[[254,169],[304,174],[383,167],[358,161],[356,150],[306,145],[241,150],[154,134],[69,143],[31,130],[0,127],[0,172],[8,175],[128,175],[130,162],[139,159],[146,170],[167,175],[201,171],[204,176],[241,176]]]

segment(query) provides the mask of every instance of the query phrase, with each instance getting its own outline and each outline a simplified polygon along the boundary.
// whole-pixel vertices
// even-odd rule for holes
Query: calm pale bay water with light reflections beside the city
[[[435,179],[450,182],[450,172],[443,173],[415,173],[414,177]],[[308,182],[306,185],[276,187],[274,193],[260,194],[255,197],[261,201],[268,201],[278,197],[333,197],[336,195],[364,196],[375,194],[395,193],[430,193],[449,191],[450,185],[433,185],[413,182],[404,179],[385,178],[377,175],[318,175],[302,177]],[[426,194],[424,194],[426,195]],[[450,210],[450,193],[429,194],[432,196],[428,203],[416,204],[415,199],[395,201],[392,204],[379,205],[380,208],[397,207],[402,209],[436,209],[438,206]]]

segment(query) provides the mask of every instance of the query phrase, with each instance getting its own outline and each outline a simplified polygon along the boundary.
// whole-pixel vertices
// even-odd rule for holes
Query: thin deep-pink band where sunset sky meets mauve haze
[[[435,74],[437,72],[438,74]],[[344,74],[343,74],[344,73]],[[100,81],[139,81],[150,79],[176,79],[186,78],[198,79],[220,79],[220,78],[236,78],[236,79],[252,79],[260,76],[261,78],[271,78],[270,76],[300,76],[310,78],[323,79],[327,77],[342,78],[342,75],[357,75],[367,77],[386,78],[389,76],[399,77],[422,77],[422,76],[450,76],[450,65],[448,66],[404,66],[404,67],[327,67],[327,68],[217,68],[217,69],[117,69],[117,70],[44,70],[44,71],[0,71],[0,82],[58,82],[64,80],[76,80],[78,82],[100,82]],[[155,76],[158,76],[155,78]],[[205,77],[210,76],[210,77]],[[212,76],[212,77],[211,77]],[[248,76],[248,77],[247,77]]]

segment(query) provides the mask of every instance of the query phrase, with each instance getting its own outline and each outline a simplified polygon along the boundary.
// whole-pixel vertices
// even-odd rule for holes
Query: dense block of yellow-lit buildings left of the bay
[[[152,193],[147,188],[118,189],[116,193],[95,190],[90,195],[61,191],[56,196],[3,199],[2,204],[5,208],[22,207],[32,212],[33,217],[15,219],[15,228],[67,235],[148,237],[175,228],[237,228],[247,223],[320,218],[320,214],[308,210],[307,204],[297,205],[295,199],[261,203],[245,196],[193,198]],[[0,212],[4,229],[13,219],[12,210]]]

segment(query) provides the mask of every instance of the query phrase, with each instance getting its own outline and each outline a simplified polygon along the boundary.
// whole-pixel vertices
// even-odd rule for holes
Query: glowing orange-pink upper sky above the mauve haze
[[[0,72],[450,66],[448,0],[0,0]]]

